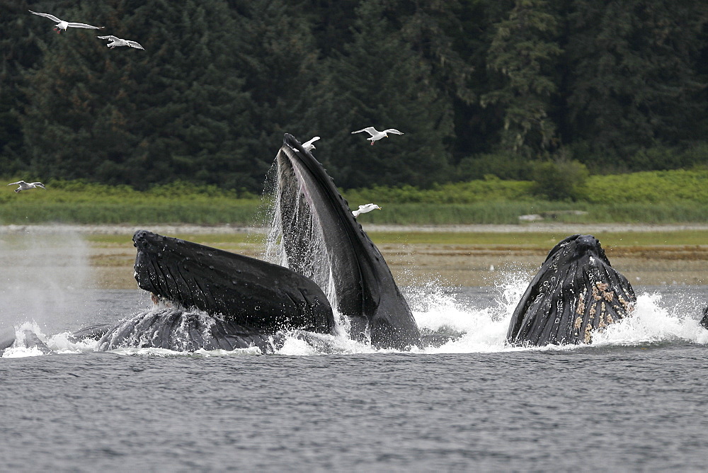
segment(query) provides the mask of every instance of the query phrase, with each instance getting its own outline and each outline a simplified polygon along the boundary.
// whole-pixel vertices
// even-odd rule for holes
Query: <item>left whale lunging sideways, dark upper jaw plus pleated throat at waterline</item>
[[[279,331],[329,334],[331,305],[314,281],[249,256],[138,230],[135,280],[166,307],[112,327],[88,327],[74,338],[120,347],[195,351],[256,346],[273,351]],[[199,312],[202,311],[202,312]]]

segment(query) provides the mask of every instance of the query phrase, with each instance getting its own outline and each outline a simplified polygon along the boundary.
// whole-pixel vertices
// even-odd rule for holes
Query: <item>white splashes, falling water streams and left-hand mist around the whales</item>
[[[277,203],[279,200],[276,199]],[[276,207],[277,209],[277,207]],[[280,212],[272,214],[276,232],[280,227]],[[282,234],[269,236],[266,250],[273,258],[282,258]],[[321,239],[321,230],[313,232]],[[315,244],[318,244],[315,242]],[[319,244],[323,244],[320,240]],[[45,353],[36,346],[27,348],[24,331],[29,330],[50,348],[52,353],[82,353],[96,351],[96,341],[76,341],[69,332],[52,336],[47,332],[47,317],[67,321],[67,317],[81,318],[95,307],[96,295],[89,280],[88,251],[78,235],[3,235],[0,239],[1,258],[5,266],[18,261],[25,265],[7,271],[0,287],[0,321],[14,329],[16,343],[7,348],[3,358],[38,356]],[[436,280],[428,280],[416,287],[404,288],[406,298],[418,326],[423,331],[450,331],[460,334],[439,348],[414,348],[413,353],[488,353],[519,350],[574,350],[578,346],[548,346],[518,348],[506,346],[506,332],[516,304],[526,290],[532,274],[523,270],[499,273],[496,287],[444,287]],[[333,277],[329,265],[322,277],[326,294],[333,295]],[[674,289],[680,287],[674,287]],[[668,287],[670,290],[670,287]],[[687,287],[678,297],[659,292],[639,292],[632,317],[608,326],[593,334],[592,346],[636,346],[646,343],[708,343],[708,331],[698,323],[698,312],[704,304],[704,289]],[[108,296],[110,297],[110,296]],[[335,306],[336,307],[336,306]],[[64,313],[64,317],[57,314]],[[66,315],[70,314],[70,315]],[[76,321],[77,324],[85,319]],[[66,326],[64,325],[65,329]],[[78,327],[77,327],[78,328]],[[381,353],[346,335],[346,321],[336,335],[309,334],[303,339],[298,334],[286,334],[276,353],[280,355],[323,355],[330,353]],[[52,329],[49,329],[52,333]],[[156,356],[229,356],[258,355],[258,348],[239,348],[234,351],[199,350],[193,353],[169,351],[163,348],[120,348],[122,355]]]

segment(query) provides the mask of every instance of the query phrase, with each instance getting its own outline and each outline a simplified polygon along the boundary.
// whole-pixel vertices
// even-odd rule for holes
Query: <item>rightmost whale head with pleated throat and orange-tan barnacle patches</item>
[[[600,241],[572,235],[556,244],[511,317],[507,342],[591,343],[593,331],[631,314],[636,296],[612,268]]]

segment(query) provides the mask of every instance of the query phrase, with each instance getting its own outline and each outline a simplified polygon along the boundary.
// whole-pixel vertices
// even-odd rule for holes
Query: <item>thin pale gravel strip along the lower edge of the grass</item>
[[[468,225],[392,225],[362,224],[366,232],[391,233],[566,233],[595,234],[600,232],[682,232],[685,230],[708,231],[708,224],[571,224],[571,223],[525,223],[525,224],[468,224]],[[148,229],[160,234],[263,234],[265,227],[241,225],[197,224],[28,224],[0,225],[0,234],[133,234]]]

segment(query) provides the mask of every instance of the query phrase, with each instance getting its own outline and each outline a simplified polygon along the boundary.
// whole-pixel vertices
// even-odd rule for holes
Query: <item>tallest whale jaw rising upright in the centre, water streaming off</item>
[[[353,338],[377,348],[420,345],[416,320],[384,257],[324,167],[287,133],[276,161],[274,227],[280,229],[287,266],[321,286],[333,283],[333,305],[348,320]]]

